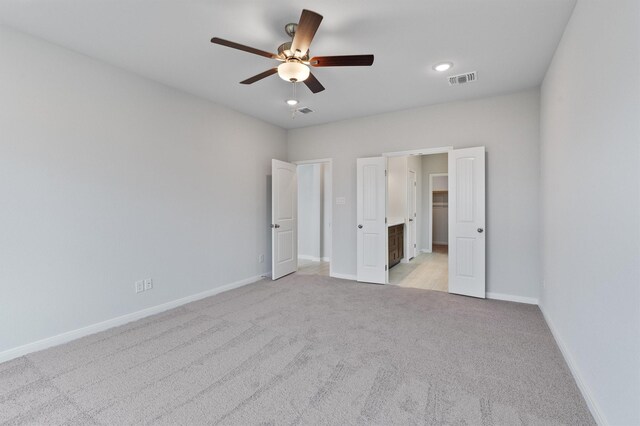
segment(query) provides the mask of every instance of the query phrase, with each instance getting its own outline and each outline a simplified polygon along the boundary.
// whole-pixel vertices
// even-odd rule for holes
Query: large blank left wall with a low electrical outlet
[[[0,352],[269,272],[284,130],[0,40]]]

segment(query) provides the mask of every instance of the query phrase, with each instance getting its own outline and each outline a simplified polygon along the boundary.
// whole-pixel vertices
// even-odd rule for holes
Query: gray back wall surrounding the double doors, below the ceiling
[[[356,273],[356,158],[484,145],[487,289],[537,298],[539,111],[539,92],[529,90],[289,131],[289,160],[334,159],[334,271]],[[346,204],[335,204],[336,197],[345,197]]]

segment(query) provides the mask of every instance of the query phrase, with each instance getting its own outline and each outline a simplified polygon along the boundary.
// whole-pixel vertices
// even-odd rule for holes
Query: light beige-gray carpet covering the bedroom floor
[[[593,424],[539,309],[314,275],[0,364],[6,424]]]

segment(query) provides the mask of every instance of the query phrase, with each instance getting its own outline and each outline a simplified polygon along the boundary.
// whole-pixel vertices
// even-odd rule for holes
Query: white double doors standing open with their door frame
[[[424,152],[426,151],[426,152]],[[486,297],[485,148],[451,147],[385,153],[356,161],[356,273],[360,282],[389,284],[392,226],[389,218],[387,170],[391,157],[447,154],[448,176],[448,292]],[[404,174],[405,176],[407,173]],[[401,187],[401,186],[400,186]],[[419,217],[419,216],[418,216]],[[418,222],[417,227],[420,227]],[[394,232],[394,237],[403,233]],[[406,238],[405,238],[406,240]],[[402,246],[402,244],[399,244]],[[398,255],[396,253],[396,255]],[[401,257],[400,255],[398,255]]]

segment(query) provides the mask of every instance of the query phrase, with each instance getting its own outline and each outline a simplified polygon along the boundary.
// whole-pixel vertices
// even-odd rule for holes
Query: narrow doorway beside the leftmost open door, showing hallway
[[[296,163],[298,175],[298,273],[331,271],[331,161]]]

